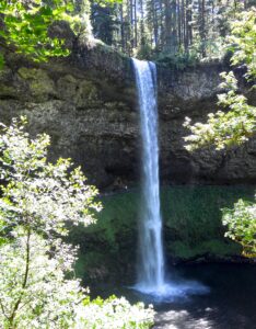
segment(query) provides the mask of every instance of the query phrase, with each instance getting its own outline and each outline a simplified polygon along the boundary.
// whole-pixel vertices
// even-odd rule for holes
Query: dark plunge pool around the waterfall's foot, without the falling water
[[[256,324],[256,265],[234,263],[179,264],[168,269],[172,281],[181,285],[201,282],[209,287],[208,294],[193,292],[168,299],[155,299],[152,295],[130,290],[127,285],[98,281],[91,285],[91,296],[104,298],[115,294],[130,303],[153,303],[154,329],[253,329]],[[183,277],[183,279],[181,279]]]

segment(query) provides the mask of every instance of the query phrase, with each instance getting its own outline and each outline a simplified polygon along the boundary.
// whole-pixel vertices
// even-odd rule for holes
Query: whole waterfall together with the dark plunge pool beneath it
[[[254,328],[256,269],[245,269],[244,264],[173,266],[168,277],[160,212],[156,67],[137,59],[132,64],[140,107],[143,179],[138,275],[136,285],[128,290],[115,282],[109,290],[103,286],[100,294],[107,297],[115,291],[131,302],[154,303],[155,329]]]

